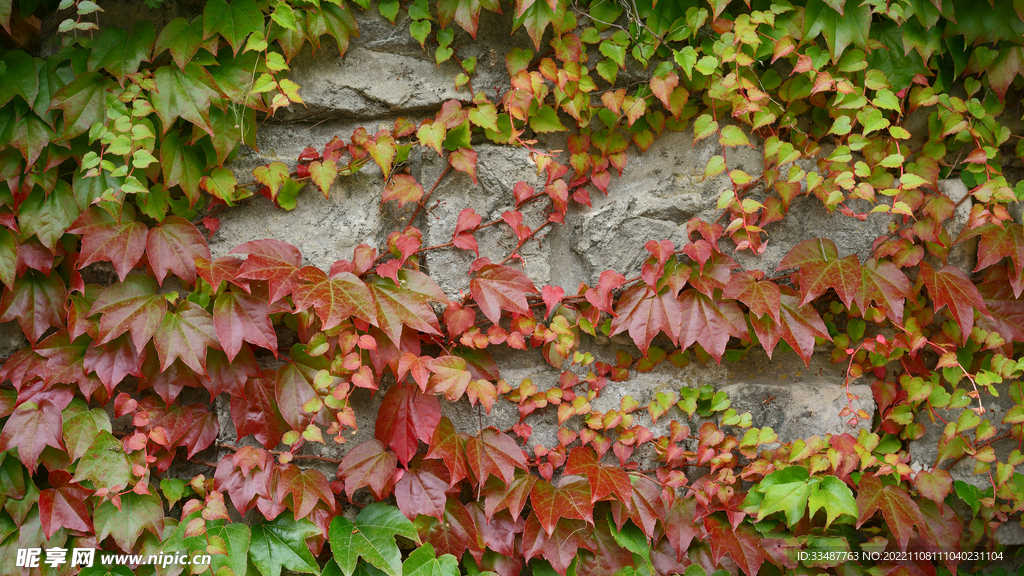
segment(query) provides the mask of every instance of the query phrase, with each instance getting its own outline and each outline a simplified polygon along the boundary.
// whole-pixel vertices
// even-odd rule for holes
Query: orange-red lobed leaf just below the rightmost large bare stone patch
[[[800,269],[801,304],[833,288],[850,307],[860,290],[860,259],[856,254],[840,258],[836,243],[827,238],[812,238],[794,246],[778,264],[778,270],[792,268]]]

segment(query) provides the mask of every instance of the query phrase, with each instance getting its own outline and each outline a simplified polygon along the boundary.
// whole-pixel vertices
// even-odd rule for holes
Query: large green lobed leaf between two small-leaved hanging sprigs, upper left
[[[208,2],[206,8],[209,9],[217,1]],[[224,3],[223,0],[219,2]],[[154,77],[157,90],[150,92],[150,100],[164,125],[165,133],[175,120],[183,118],[206,133],[213,134],[210,100],[219,96],[220,92],[206,69],[196,63],[189,63],[184,70],[164,66],[157,69]]]

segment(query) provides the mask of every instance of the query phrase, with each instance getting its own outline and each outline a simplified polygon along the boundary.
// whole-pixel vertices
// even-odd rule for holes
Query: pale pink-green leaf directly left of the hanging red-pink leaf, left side
[[[160,355],[160,369],[166,370],[175,359],[199,374],[206,373],[206,348],[218,347],[213,317],[199,304],[185,300],[178,310],[164,316],[153,335]]]

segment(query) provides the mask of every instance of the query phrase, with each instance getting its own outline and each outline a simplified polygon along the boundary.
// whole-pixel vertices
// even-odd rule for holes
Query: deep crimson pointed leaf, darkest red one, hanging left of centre
[[[404,466],[416,455],[421,440],[430,442],[440,419],[436,396],[423,394],[414,385],[395,384],[381,401],[374,436],[394,450]]]

